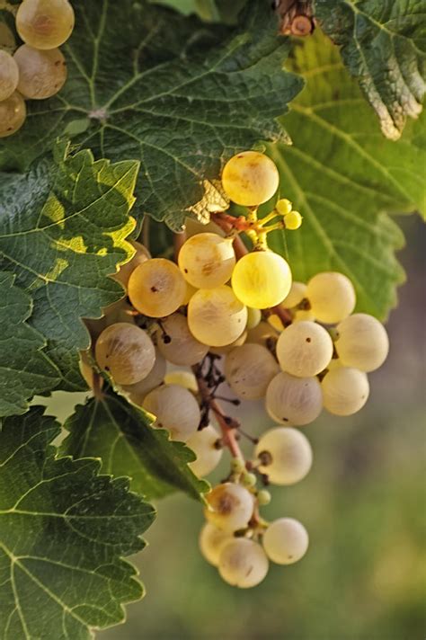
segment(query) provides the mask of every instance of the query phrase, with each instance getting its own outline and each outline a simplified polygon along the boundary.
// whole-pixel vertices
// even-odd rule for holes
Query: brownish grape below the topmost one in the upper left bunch
[[[25,98],[50,98],[67,80],[67,63],[59,49],[39,51],[22,44],[13,58],[19,67],[18,91]]]

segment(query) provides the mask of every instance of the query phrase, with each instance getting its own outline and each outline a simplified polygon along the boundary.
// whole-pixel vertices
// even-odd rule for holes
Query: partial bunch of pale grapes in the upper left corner
[[[12,31],[0,48],[0,138],[12,136],[26,118],[26,100],[44,100],[67,80],[67,62],[58,47],[74,29],[68,0],[22,0],[16,13],[17,49]]]

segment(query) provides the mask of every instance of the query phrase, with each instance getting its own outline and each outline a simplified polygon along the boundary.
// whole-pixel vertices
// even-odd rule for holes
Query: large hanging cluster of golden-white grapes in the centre
[[[300,522],[269,523],[260,515],[271,500],[267,485],[295,484],[312,466],[309,441],[296,427],[323,407],[337,415],[359,411],[368,399],[367,373],[386,359],[388,341],[374,317],[353,313],[346,276],[327,271],[307,284],[292,282],[288,263],[268,249],[271,230],[301,224],[284,199],[257,218],[279,186],[270,158],[238,154],[222,181],[247,215],[217,214],[217,227],[186,239],[177,264],[134,242],[133,259],[114,276],[127,298],[88,324],[94,349],[82,370],[93,384],[95,362],[121,394],[155,415],[156,428],[186,442],[197,476],[230,450],[228,476],[207,495],[200,549],[226,582],[247,588],[262,581],[270,560],[291,564],[306,553]],[[251,252],[241,244],[243,231]],[[167,363],[186,369],[168,370]],[[224,383],[235,397],[219,396]],[[220,403],[260,399],[276,426],[254,439]],[[248,460],[242,436],[254,444]]]

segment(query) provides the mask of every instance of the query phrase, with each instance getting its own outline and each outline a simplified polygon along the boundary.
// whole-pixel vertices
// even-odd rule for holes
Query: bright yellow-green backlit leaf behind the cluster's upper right
[[[395,249],[404,236],[386,211],[424,209],[422,121],[410,121],[397,143],[384,138],[374,112],[319,32],[297,47],[293,67],[306,89],[284,122],[293,146],[270,146],[281,196],[304,217],[276,232],[271,245],[288,258],[296,280],[342,271],[357,289],[358,308],[385,318],[404,271]]]

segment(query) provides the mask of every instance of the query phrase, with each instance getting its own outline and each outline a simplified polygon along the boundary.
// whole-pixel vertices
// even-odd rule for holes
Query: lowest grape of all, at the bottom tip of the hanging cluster
[[[268,569],[268,557],[261,545],[248,538],[229,540],[220,550],[220,576],[234,587],[255,587],[265,578]]]

